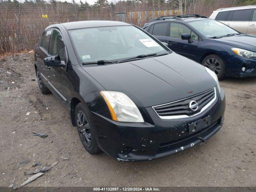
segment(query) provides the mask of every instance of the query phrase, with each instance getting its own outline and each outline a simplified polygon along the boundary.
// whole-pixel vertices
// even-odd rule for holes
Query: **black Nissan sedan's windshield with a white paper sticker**
[[[84,28],[69,32],[78,57],[86,63],[168,53],[158,42],[134,26]]]

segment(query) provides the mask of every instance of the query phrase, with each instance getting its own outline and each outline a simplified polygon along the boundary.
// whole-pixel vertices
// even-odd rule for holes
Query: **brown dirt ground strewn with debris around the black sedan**
[[[32,54],[0,58],[0,186],[20,186],[29,177],[24,172],[56,161],[27,186],[256,186],[256,78],[220,82],[225,121],[210,140],[145,162],[88,154],[68,111],[52,94],[41,94],[33,79]],[[22,160],[30,162],[17,170]],[[36,162],[42,166],[32,167]]]

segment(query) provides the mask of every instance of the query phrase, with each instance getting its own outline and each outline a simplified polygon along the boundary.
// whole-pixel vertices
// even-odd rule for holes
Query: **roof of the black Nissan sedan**
[[[118,21],[76,21],[62,23],[61,25],[64,26],[67,30],[107,26],[131,26],[131,24]]]

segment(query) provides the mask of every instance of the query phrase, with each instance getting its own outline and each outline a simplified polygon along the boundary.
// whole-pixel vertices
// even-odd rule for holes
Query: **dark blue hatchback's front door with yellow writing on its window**
[[[192,42],[181,39],[181,35],[184,33],[191,35]],[[170,24],[169,35],[166,42],[168,43],[168,47],[174,52],[192,60],[196,60],[196,54],[198,54],[199,36],[184,24],[172,22]]]

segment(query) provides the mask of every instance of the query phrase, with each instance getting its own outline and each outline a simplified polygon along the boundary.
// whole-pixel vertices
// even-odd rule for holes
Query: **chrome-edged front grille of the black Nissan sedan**
[[[186,118],[203,112],[216,98],[216,88],[212,88],[189,98],[154,106],[153,109],[162,119]],[[192,100],[198,103],[198,109],[196,111],[189,108],[189,103]]]

